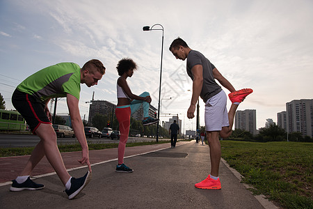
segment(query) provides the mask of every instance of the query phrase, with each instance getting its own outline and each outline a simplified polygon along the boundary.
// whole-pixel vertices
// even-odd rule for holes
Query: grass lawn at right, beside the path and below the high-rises
[[[313,143],[220,141],[222,157],[284,208],[313,208]]]

